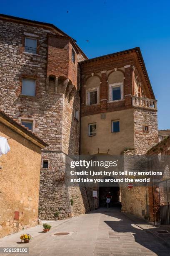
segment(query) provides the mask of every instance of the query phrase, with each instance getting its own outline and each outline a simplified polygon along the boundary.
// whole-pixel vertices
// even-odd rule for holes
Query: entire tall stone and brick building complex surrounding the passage
[[[64,183],[65,156],[79,154],[80,134],[80,152],[91,155],[145,154],[158,142],[157,101],[140,49],[87,59],[52,24],[0,15],[0,28],[0,109],[49,145],[42,151],[40,218],[84,213],[87,189]],[[145,215],[145,189],[130,193],[121,192],[122,210]]]

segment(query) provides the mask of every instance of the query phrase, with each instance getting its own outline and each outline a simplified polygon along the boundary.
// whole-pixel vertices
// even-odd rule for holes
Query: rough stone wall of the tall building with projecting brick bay
[[[22,118],[33,120],[35,134],[49,144],[42,151],[42,163],[48,160],[49,165],[41,169],[39,217],[52,220],[56,211],[60,212],[60,218],[83,213],[88,210],[84,206],[85,198],[82,198],[85,193],[65,187],[62,179],[65,175],[65,154],[79,154],[80,120],[74,118],[75,108],[80,112],[80,78],[77,77],[80,68],[77,61],[85,57],[81,51],[78,52],[78,48],[75,49],[74,43],[74,64],[71,60],[72,39],[50,25],[47,28],[36,22],[0,19],[0,27],[0,109],[18,122]],[[36,54],[25,52],[25,36],[28,33],[37,38]],[[68,44],[66,62],[62,58],[65,50],[60,49],[59,52],[63,38],[67,38]],[[60,65],[57,69],[60,73],[55,73],[54,63]],[[71,87],[74,85],[75,96],[72,95],[72,99],[68,97],[66,93],[70,87],[63,90],[62,84],[58,84],[57,91],[50,86],[47,90],[47,75],[65,75],[65,79],[69,79],[68,84]],[[23,78],[36,80],[35,97],[22,95]],[[73,206],[70,205],[71,196],[75,198]],[[79,200],[77,197],[80,197]]]

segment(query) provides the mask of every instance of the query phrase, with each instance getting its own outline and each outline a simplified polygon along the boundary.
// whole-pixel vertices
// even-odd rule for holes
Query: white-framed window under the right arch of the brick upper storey
[[[109,101],[123,99],[123,83],[109,84]]]

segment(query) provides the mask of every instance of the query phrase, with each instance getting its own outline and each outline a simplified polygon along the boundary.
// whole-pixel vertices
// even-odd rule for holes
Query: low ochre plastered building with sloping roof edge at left
[[[0,157],[0,237],[37,225],[41,149],[47,144],[0,111],[0,136],[10,151]]]

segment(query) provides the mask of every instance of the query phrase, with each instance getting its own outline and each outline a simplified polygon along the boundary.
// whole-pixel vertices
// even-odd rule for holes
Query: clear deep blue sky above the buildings
[[[1,0],[0,13],[53,23],[89,58],[140,46],[158,100],[159,129],[170,129],[169,0]]]

